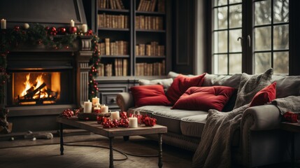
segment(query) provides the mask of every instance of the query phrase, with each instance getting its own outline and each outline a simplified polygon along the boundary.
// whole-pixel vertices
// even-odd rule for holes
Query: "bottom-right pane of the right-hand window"
[[[289,52],[274,52],[274,73],[289,73]]]

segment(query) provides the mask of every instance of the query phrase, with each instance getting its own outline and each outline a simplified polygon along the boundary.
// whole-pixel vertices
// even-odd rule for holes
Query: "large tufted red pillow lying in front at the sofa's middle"
[[[222,111],[234,91],[234,87],[228,86],[190,87],[172,109]]]

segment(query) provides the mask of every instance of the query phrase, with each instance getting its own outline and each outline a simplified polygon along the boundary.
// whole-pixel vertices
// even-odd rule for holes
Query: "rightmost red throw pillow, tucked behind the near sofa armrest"
[[[276,98],[276,82],[264,87],[253,97],[250,106],[261,106]]]

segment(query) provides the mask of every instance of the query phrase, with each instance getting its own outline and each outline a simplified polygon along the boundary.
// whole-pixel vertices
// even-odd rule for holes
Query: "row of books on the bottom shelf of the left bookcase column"
[[[114,64],[99,64],[99,76],[127,76],[127,59],[115,59]],[[113,71],[113,67],[114,70]]]

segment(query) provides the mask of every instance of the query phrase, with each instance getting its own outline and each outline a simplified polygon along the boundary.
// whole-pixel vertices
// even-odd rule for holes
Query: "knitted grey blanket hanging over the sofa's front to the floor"
[[[249,104],[224,113],[209,110],[192,167],[231,167],[231,137],[238,130],[243,111]]]

